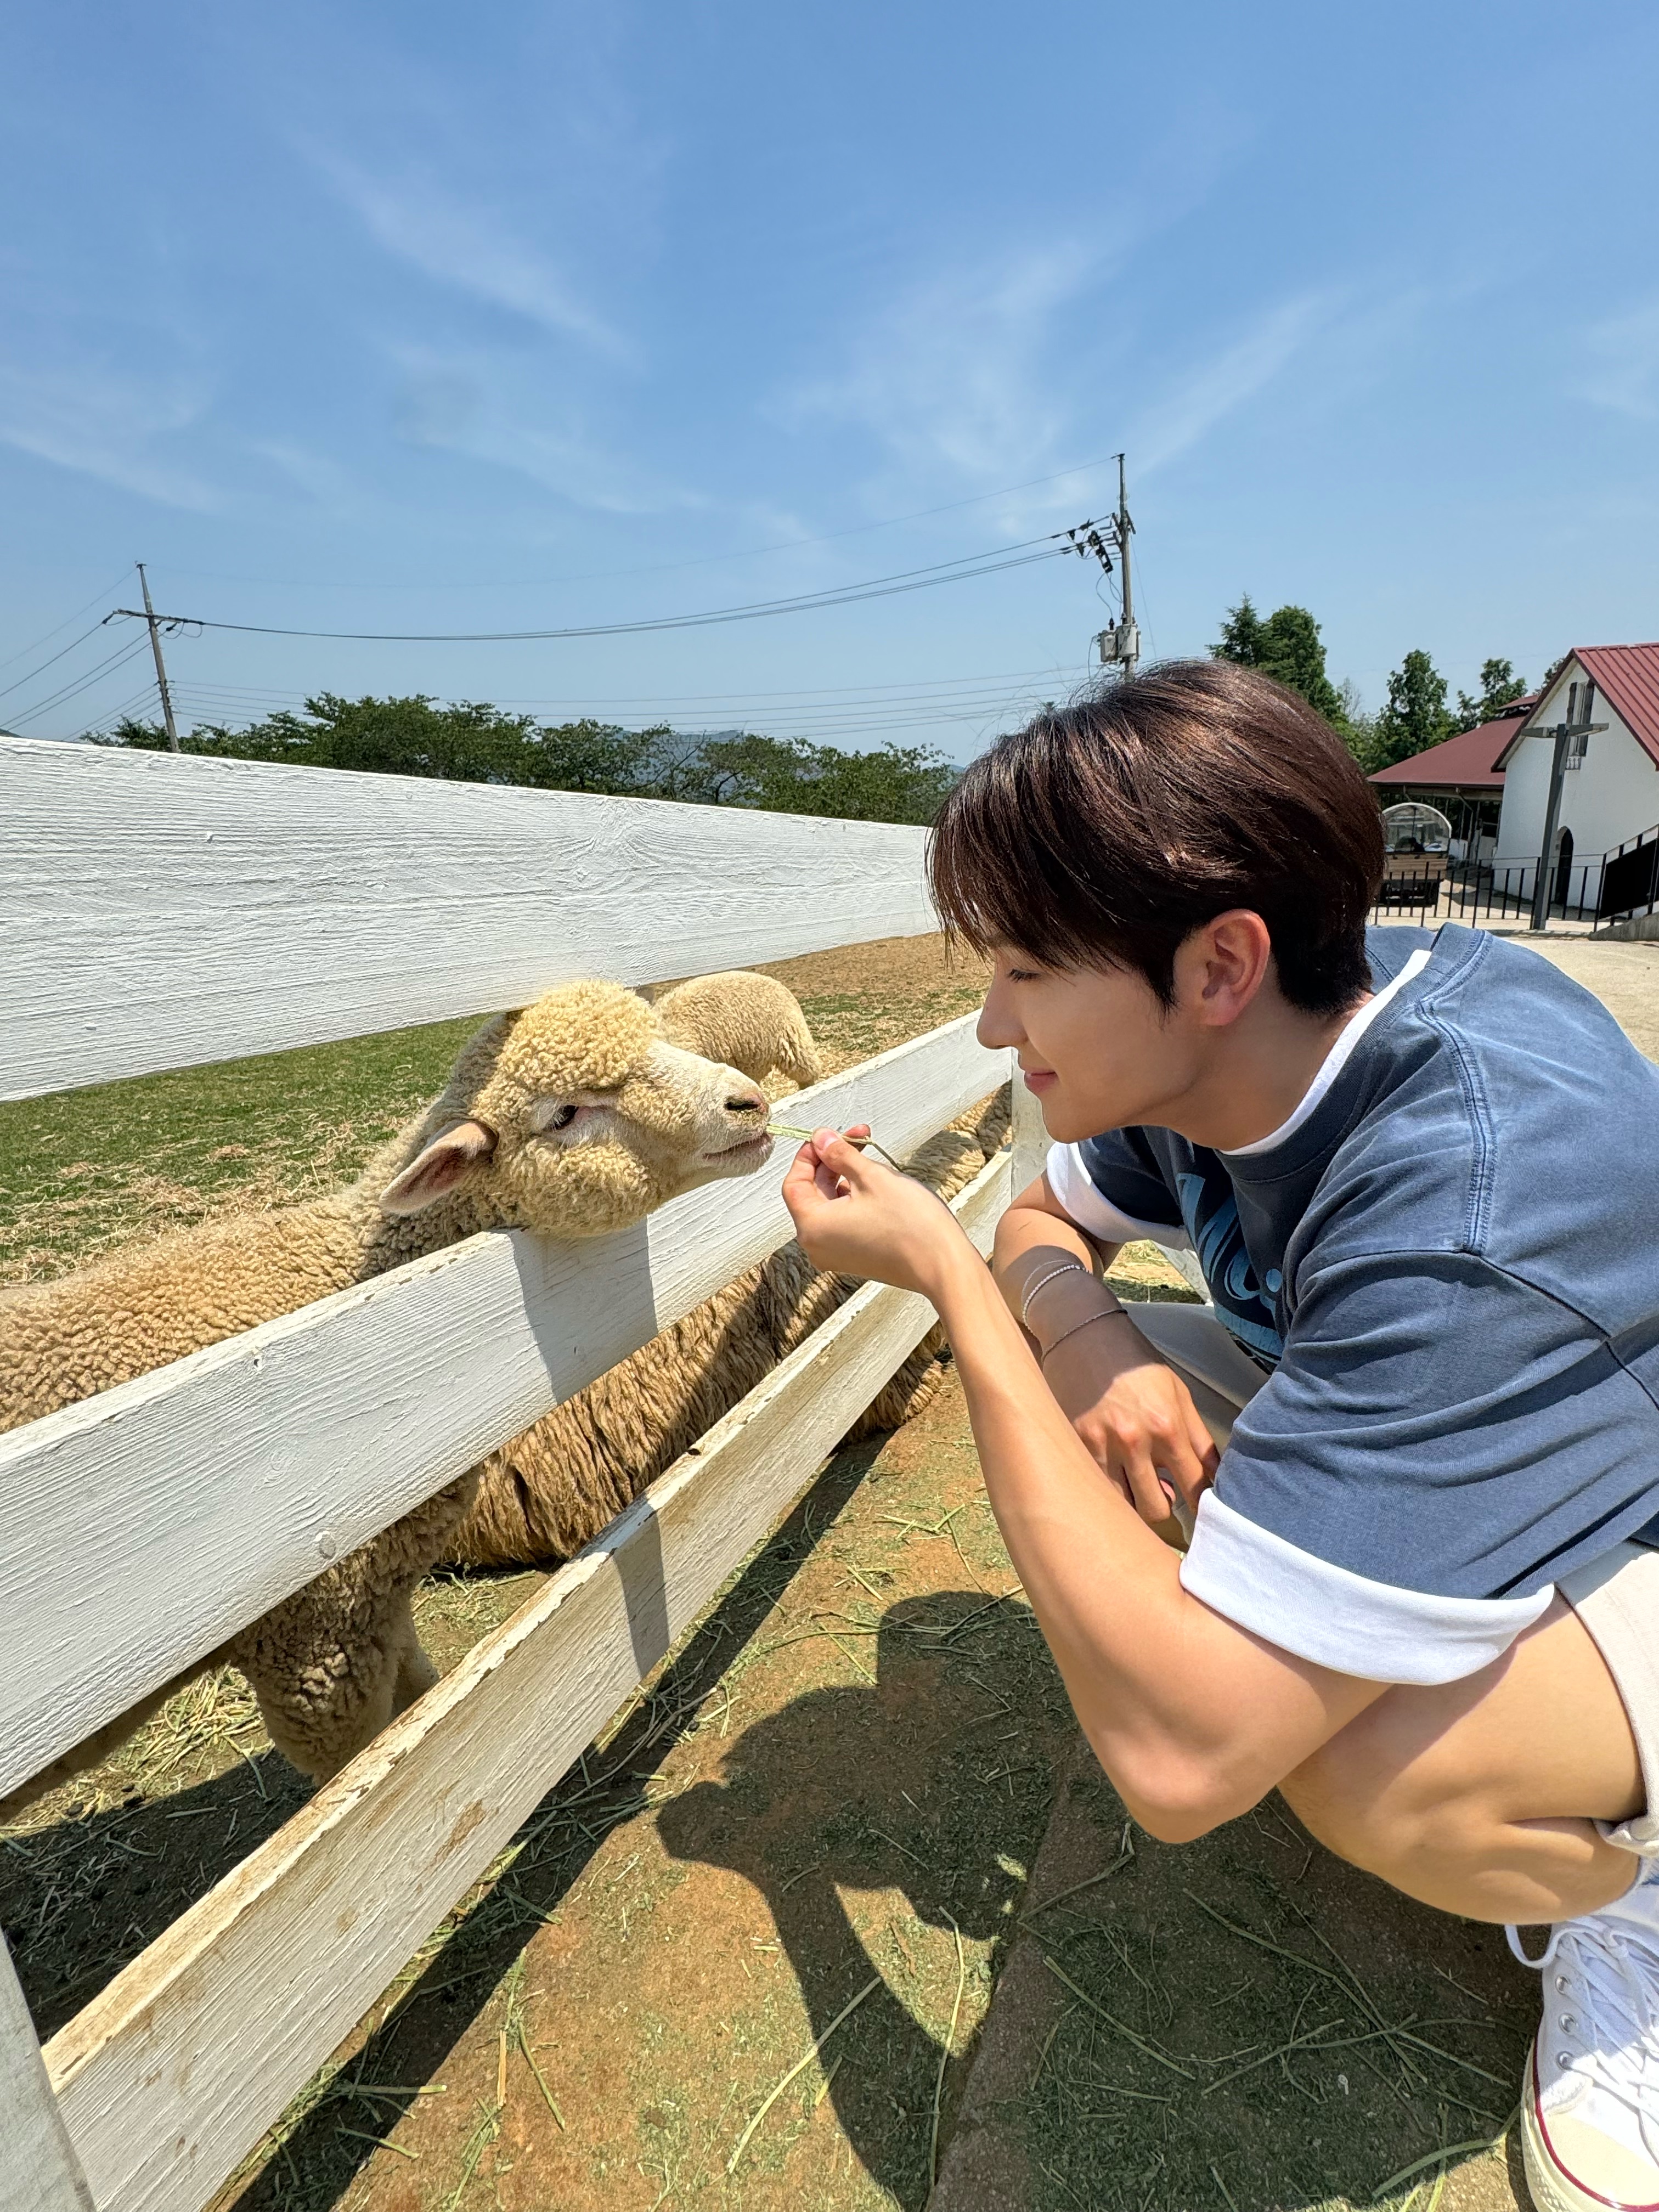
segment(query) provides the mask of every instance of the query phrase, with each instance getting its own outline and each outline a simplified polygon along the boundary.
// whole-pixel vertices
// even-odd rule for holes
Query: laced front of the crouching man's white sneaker
[[[1601,1913],[1562,1920],[1540,1958],[1517,1929],[1504,1933],[1522,1966],[1546,1975],[1540,2095],[1568,2073],[1593,2084],[1624,2106],[1659,2163],[1659,1940]]]

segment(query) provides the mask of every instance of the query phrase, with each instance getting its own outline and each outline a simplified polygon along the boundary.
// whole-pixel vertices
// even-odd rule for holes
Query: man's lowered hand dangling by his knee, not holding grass
[[[1042,1374],[1093,1460],[1148,1526],[1170,1520],[1172,1495],[1197,1511],[1214,1482],[1214,1442],[1186,1383],[1128,1314],[1102,1314],[1055,1343]]]

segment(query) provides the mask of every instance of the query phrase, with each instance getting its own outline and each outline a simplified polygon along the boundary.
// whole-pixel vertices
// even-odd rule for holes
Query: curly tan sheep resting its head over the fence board
[[[714,1026],[712,1000],[706,1013]],[[799,1031],[790,998],[779,1060],[799,1060]],[[745,1042],[763,1055],[763,1040]],[[345,1190],[0,1294],[0,1431],[476,1230],[624,1228],[681,1190],[763,1166],[765,1115],[752,1077],[670,1040],[633,991],[564,984],[484,1022],[442,1095]],[[436,1679],[409,1595],[451,1548],[476,1486],[478,1471],[451,1482],[201,1661],[248,1674],[272,1741],[305,1774],[336,1772]],[[0,1816],[97,1763],[175,1688],[66,1752]]]

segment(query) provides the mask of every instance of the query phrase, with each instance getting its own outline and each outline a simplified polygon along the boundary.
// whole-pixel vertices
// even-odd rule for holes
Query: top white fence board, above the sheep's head
[[[925,838],[0,739],[0,1099],[916,936]]]

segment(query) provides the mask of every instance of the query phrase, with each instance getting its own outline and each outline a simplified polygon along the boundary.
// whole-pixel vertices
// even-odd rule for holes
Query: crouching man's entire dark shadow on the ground
[[[929,2188],[956,1980],[929,1931],[949,1942],[953,1924],[991,1940],[993,1975],[1018,1942],[1037,2000],[1000,2108],[964,2108],[967,2126],[991,2117],[1004,2130],[1006,2170],[1029,2185],[998,2199],[1002,2212],[1360,2203],[1436,2143],[1500,2135],[1537,2004],[1502,1929],[1343,1865],[1276,1796],[1194,1845],[1159,1845],[1128,1827],[1093,1759],[1053,1801],[1071,1867],[1031,1896],[1018,1863],[1035,1856],[1048,1776],[1077,1734],[1068,1708],[1057,1721],[1046,1708],[1053,1668],[1029,1608],[987,1606],[978,1590],[909,1599],[880,1619],[874,1650],[874,1683],[807,1690],[757,1721],[723,1783],[670,1801],[657,1827],[672,1856],[761,1891],[814,2039],[878,1978],[823,2066],[852,2150],[898,2203]],[[1006,1820],[1004,1754],[1033,1761],[1033,1781],[1040,1770],[1029,1803],[1002,1798]],[[883,1916],[849,1909],[847,1891],[900,1896]],[[909,1960],[922,1953],[918,1978]],[[942,2146],[975,2046],[947,2068]],[[748,2157],[776,2174],[803,2126],[799,2106],[779,2104]],[[1495,2212],[1502,2192],[1493,2157],[1453,2174],[1447,2205]]]

